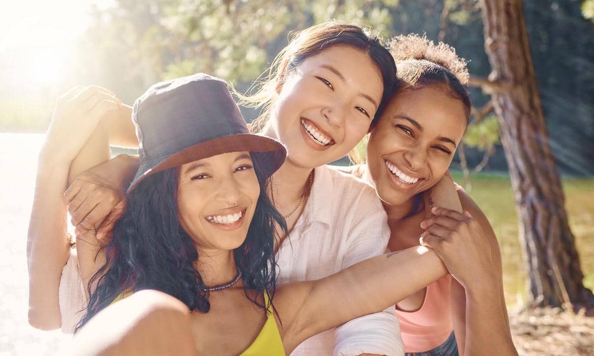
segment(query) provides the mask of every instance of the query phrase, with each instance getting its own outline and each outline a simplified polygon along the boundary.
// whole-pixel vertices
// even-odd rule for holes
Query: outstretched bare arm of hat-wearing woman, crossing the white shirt
[[[275,306],[285,350],[355,317],[384,310],[445,274],[435,252],[418,246],[364,260],[318,281],[280,288]]]

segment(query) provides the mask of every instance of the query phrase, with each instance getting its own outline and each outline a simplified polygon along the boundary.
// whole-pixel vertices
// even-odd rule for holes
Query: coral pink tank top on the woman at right
[[[451,275],[427,286],[425,301],[417,311],[396,310],[405,352],[424,352],[443,344],[454,329],[450,305]]]

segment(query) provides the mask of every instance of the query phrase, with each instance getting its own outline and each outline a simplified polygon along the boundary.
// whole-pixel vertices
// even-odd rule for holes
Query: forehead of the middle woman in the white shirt
[[[380,70],[368,53],[352,46],[335,45],[309,56],[298,68],[304,71],[323,70],[324,66],[336,68],[347,84],[354,88],[381,98],[384,83]]]

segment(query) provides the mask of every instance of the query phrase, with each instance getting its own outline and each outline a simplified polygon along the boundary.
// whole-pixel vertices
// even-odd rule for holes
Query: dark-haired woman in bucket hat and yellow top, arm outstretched
[[[116,105],[108,94],[102,101]],[[52,177],[41,169],[40,186],[55,177],[64,182],[87,139],[68,147],[55,141],[75,124],[80,105],[67,97],[56,109],[41,160],[52,164]],[[97,122],[78,127],[89,134]],[[202,74],[151,87],[134,105],[134,122],[140,167],[112,239],[97,249],[103,264],[91,278],[74,354],[284,355],[447,273],[419,246],[276,288],[274,228],[286,225],[266,188],[283,163],[283,146],[249,134],[225,82]],[[52,187],[44,193],[55,198],[60,187]],[[47,198],[35,199],[39,208]],[[65,230],[56,225],[46,233]],[[179,343],[169,344],[174,339]]]

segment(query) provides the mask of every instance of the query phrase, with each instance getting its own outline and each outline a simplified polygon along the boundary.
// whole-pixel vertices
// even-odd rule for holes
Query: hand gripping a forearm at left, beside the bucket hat
[[[126,208],[125,188],[138,168],[138,160],[119,155],[80,174],[64,193],[77,235],[95,231],[107,242]]]

